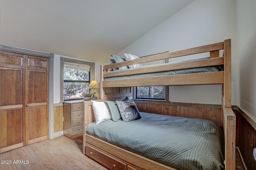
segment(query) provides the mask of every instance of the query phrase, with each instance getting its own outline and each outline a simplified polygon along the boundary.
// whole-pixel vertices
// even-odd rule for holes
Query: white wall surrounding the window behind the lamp
[[[75,58],[71,58],[71,57],[67,57],[67,56],[62,56],[62,55],[54,55],[54,69],[53,69],[53,102],[54,104],[58,104],[60,103],[60,57],[65,57],[65,58],[69,58],[69,59],[75,59]],[[80,60],[80,59],[76,59],[76,60]],[[82,60],[82,61],[88,61],[88,60]],[[92,62],[92,61],[88,61],[88,62]],[[95,62],[95,80],[98,82],[98,84],[100,83],[100,65],[102,65],[102,63],[97,63]],[[97,89],[97,94],[95,95],[96,97],[100,98],[100,89]]]

